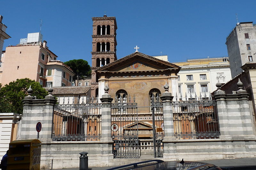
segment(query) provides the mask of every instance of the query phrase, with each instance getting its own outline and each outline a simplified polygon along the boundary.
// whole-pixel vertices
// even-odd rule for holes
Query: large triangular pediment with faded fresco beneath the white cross
[[[100,67],[96,71],[144,71],[165,70],[170,68],[180,70],[180,67],[175,64],[135,52],[116,60],[113,63]]]

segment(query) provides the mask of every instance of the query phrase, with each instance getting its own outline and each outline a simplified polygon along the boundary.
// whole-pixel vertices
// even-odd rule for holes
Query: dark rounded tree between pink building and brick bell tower
[[[68,65],[76,73],[73,80],[75,80],[77,77],[91,76],[91,66],[86,60],[74,59],[66,61],[64,64]]]

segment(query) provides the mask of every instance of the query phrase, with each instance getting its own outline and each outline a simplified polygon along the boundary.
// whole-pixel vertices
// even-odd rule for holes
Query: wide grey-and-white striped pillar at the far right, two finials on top
[[[242,89],[243,83],[238,81],[239,90],[233,94],[225,94],[220,90],[220,83],[216,86],[218,90],[214,93],[214,98],[217,102],[220,138],[255,138],[248,102],[249,94]]]

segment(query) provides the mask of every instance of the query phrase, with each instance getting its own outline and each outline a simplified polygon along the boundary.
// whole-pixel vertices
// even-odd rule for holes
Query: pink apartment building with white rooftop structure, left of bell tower
[[[67,65],[57,60],[42,42],[41,33],[29,33],[16,46],[8,46],[2,53],[0,83],[9,84],[20,78],[30,78],[42,86],[71,86],[75,75]]]

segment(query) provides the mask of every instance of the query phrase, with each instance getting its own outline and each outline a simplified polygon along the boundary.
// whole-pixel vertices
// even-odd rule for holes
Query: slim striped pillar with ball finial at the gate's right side
[[[174,127],[173,127],[173,112],[172,112],[172,99],[173,96],[168,92],[169,85],[164,85],[165,92],[162,94],[160,99],[163,102],[163,114],[164,114],[164,137],[174,138]]]

